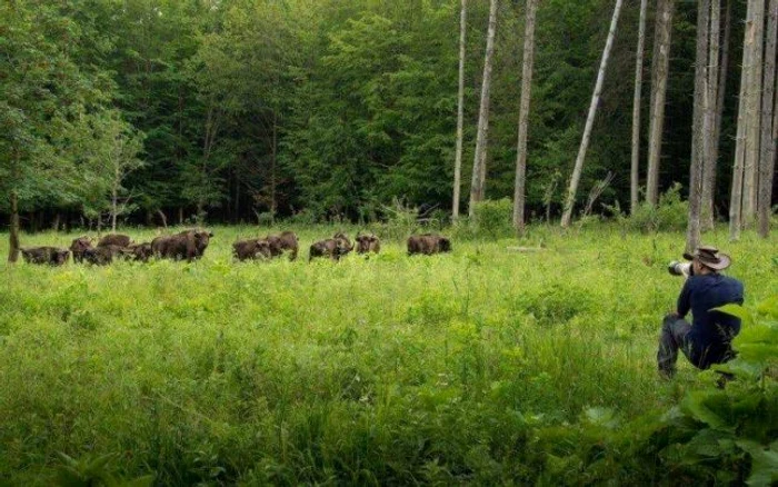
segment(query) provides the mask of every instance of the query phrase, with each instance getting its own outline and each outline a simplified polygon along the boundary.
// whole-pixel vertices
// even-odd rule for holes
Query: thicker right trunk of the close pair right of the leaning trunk
[[[654,32],[654,66],[651,69],[651,109],[648,130],[648,175],[646,201],[656,206],[659,200],[659,159],[665,128],[665,99],[670,66],[670,39],[675,0],[659,0]]]

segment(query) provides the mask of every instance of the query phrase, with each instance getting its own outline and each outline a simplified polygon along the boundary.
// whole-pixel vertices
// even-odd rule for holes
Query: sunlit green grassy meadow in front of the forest
[[[211,229],[192,264],[0,268],[0,484],[68,468],[137,485],[710,480],[599,436],[716,379],[684,359],[671,381],[656,371],[684,235],[535,226],[309,264],[340,228],[305,227],[297,261],[236,264],[238,237],[279,229]],[[746,308],[778,296],[775,233],[705,241],[732,256]]]

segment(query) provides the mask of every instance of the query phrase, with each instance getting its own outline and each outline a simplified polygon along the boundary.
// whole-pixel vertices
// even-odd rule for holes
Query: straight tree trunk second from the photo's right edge
[[[749,16],[746,31],[750,30],[749,47],[751,58],[748,77],[748,103],[746,106],[746,166],[742,181],[742,221],[744,227],[751,226],[757,213],[757,185],[759,168],[760,110],[762,41],[765,22],[765,0],[749,1]],[[749,29],[750,28],[750,29]]]

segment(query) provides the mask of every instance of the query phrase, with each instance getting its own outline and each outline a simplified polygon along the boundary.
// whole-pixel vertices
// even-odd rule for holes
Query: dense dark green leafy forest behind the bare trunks
[[[656,9],[640,130],[646,180]],[[667,1],[665,2],[667,3]],[[670,2],[672,3],[672,2]],[[476,149],[489,2],[467,6],[461,205]],[[626,0],[577,197],[630,202],[640,1]],[[111,218],[372,220],[398,201],[450,211],[459,0],[19,0],[0,6],[0,213],[28,229]],[[672,6],[670,7],[672,8]],[[539,3],[527,136],[529,220],[558,217],[608,36],[611,0]],[[659,192],[686,195],[698,6],[677,2]],[[513,195],[526,2],[497,2],[486,198]],[[731,18],[715,211],[728,212],[744,1]],[[657,23],[658,26],[658,23]],[[721,46],[725,50],[725,46]],[[649,97],[648,93],[651,92]],[[775,199],[775,197],[774,197]],[[100,217],[100,218],[99,218]]]

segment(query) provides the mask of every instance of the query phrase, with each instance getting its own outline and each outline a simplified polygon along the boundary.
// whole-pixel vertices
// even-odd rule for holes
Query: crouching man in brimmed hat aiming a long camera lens
[[[665,317],[657,352],[659,374],[667,378],[676,372],[679,349],[702,370],[730,360],[732,338],[740,332],[739,318],[714,311],[724,305],[742,305],[742,282],[719,274],[731,264],[729,256],[702,246],[684,258],[691,260],[690,277],[678,296],[677,311]],[[691,325],[684,319],[689,311]]]

